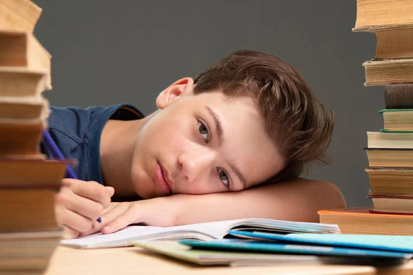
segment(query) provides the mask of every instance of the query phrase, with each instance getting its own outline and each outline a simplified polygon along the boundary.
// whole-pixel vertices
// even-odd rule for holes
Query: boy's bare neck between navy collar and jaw
[[[108,120],[100,137],[100,170],[106,186],[120,197],[136,196],[131,181],[131,161],[136,139],[147,118]]]

